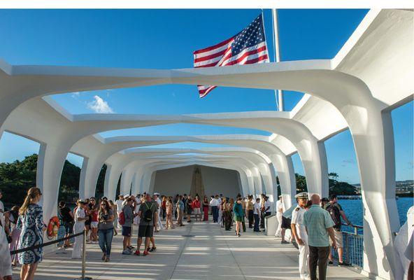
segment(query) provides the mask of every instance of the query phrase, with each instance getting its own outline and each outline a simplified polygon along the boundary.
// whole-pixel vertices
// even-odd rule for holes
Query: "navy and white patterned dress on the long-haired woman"
[[[17,220],[17,229],[21,230],[18,249],[43,243],[43,210],[37,204],[29,204],[27,212]],[[19,262],[22,265],[42,261],[43,248],[19,253]]]

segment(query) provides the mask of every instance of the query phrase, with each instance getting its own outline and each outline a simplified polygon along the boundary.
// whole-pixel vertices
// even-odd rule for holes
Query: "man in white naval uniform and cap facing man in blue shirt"
[[[299,274],[301,279],[309,279],[308,259],[308,234],[304,226],[305,206],[308,202],[308,193],[298,193],[294,196],[297,199],[297,207],[292,212],[292,235],[299,245]]]

